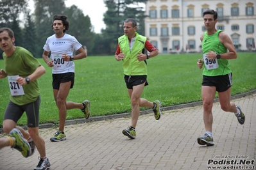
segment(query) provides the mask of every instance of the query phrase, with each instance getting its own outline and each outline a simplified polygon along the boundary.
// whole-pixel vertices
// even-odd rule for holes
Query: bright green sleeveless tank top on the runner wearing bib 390
[[[203,54],[206,54],[209,52],[209,50],[212,50],[216,52],[216,54],[223,54],[226,53],[228,50],[226,47],[219,41],[219,33],[221,30],[219,29],[214,33],[213,35],[207,35],[207,32],[203,35],[203,41],[202,41],[202,50]],[[206,66],[204,65],[203,69],[203,75],[207,76],[217,76],[217,75],[226,75],[228,73],[231,73],[228,59],[217,59],[218,60],[218,68],[207,70]]]

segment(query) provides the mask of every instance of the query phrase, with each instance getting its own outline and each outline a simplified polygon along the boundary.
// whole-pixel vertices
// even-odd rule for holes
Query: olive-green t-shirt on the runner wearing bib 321
[[[22,47],[16,47],[15,51],[10,57],[7,57],[5,52],[3,52],[3,59],[5,72],[7,75],[19,75],[23,78],[33,73],[37,67],[41,65],[39,61],[33,57],[31,52]],[[24,95],[10,95],[10,100],[13,103],[17,105],[24,105],[37,100],[40,93],[37,80],[31,81],[30,84],[24,85],[23,89]]]

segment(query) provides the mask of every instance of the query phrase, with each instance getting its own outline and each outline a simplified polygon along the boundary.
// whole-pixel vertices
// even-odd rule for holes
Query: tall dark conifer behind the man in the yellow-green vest
[[[114,54],[117,38],[123,35],[123,22],[125,19],[137,20],[137,31],[144,35],[144,11],[139,3],[146,3],[148,0],[104,0],[108,10],[104,13],[106,29],[103,29],[103,37],[108,41],[108,54]],[[134,7],[133,7],[134,6]]]

